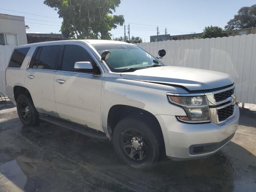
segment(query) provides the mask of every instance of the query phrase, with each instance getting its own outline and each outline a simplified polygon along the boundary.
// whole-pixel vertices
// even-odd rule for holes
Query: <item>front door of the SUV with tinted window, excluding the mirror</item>
[[[82,44],[63,45],[60,70],[54,76],[54,92],[58,116],[72,122],[102,130],[100,96],[102,75],[74,71],[75,62],[96,62]]]

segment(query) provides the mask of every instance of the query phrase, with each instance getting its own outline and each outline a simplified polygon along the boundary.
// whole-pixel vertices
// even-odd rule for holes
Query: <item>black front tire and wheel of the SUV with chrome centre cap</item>
[[[126,117],[114,128],[113,145],[117,156],[138,169],[152,167],[160,159],[160,133],[145,120]]]

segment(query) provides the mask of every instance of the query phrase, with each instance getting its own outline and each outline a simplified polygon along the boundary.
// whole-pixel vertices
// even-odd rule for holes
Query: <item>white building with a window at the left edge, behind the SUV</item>
[[[5,95],[5,70],[15,46],[27,44],[24,17],[0,14],[0,93]]]

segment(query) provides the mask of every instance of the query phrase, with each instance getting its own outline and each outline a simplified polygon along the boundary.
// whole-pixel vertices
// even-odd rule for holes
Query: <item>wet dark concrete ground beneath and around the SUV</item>
[[[234,138],[213,156],[141,171],[120,162],[110,141],[23,126],[12,104],[0,104],[0,192],[19,191],[255,192],[256,110],[240,108]]]

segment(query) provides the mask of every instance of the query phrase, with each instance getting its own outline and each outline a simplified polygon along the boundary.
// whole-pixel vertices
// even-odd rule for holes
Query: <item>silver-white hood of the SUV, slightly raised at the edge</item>
[[[214,90],[233,84],[230,75],[197,68],[160,66],[120,73],[122,78],[170,86],[180,86],[188,92]]]

